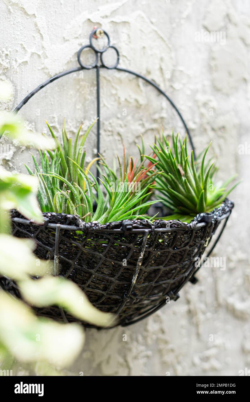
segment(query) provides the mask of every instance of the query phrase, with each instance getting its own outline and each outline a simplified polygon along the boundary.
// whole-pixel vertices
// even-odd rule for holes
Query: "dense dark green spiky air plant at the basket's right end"
[[[229,183],[235,178],[232,176],[225,183],[215,184],[214,176],[217,168],[211,159],[205,164],[205,157],[211,143],[207,146],[201,162],[194,160],[193,150],[191,158],[187,151],[187,135],[182,142],[179,133],[172,135],[172,146],[162,133],[157,137],[155,144],[151,146],[153,157],[146,158],[155,165],[155,169],[161,170],[161,174],[155,176],[156,189],[161,194],[161,201],[175,214],[166,219],[179,219],[190,222],[197,213],[211,212],[220,206],[228,194],[238,185],[236,183],[229,190]],[[190,160],[191,159],[191,160]]]

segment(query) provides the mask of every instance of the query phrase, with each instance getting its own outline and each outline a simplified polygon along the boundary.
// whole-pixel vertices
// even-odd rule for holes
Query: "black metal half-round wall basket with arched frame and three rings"
[[[108,34],[104,32],[108,45],[103,50],[96,49],[93,35],[90,45],[83,46],[78,52],[79,68],[58,74],[30,92],[18,105],[18,111],[41,88],[71,72],[96,68],[97,109],[100,117],[100,82],[99,69],[113,68],[130,72],[152,84],[171,103],[181,118],[178,109],[168,96],[153,82],[140,74],[118,68],[105,66],[102,54],[110,46]],[[92,66],[83,66],[81,51],[90,47],[96,53],[96,62]],[[101,66],[98,64],[100,53]],[[97,127],[97,149],[100,152],[100,119]],[[195,258],[203,255],[210,244],[218,226],[220,231],[210,247],[212,252],[219,240],[234,204],[226,199],[211,213],[198,214],[190,224],[177,220],[148,221],[133,220],[112,222],[100,225],[97,222],[85,224],[77,216],[44,213],[44,224],[37,225],[12,211],[13,235],[32,238],[37,243],[35,254],[39,258],[54,259],[55,275],[71,279],[86,293],[91,303],[102,311],[117,314],[117,325],[130,325],[159,310],[170,300],[177,300],[179,290],[191,281],[196,282]],[[207,256],[209,255],[207,254]],[[10,293],[20,296],[16,284],[6,277],[0,277],[0,286]],[[64,320],[76,321],[67,312],[56,306],[36,309],[37,314]]]

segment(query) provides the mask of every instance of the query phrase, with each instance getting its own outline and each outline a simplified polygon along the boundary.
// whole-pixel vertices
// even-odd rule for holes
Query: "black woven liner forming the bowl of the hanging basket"
[[[143,227],[141,232],[114,233],[123,222],[100,225],[96,222],[83,224],[74,232],[60,230],[59,275],[71,279],[83,289],[91,303],[102,311],[119,312],[119,323],[126,324],[159,306],[169,293],[180,288],[194,270],[194,259],[203,254],[218,224],[218,218],[230,212],[233,203],[226,200],[213,211],[214,221],[201,228],[203,214],[197,215],[190,224],[169,221],[173,231],[156,232],[166,228],[161,219],[150,224],[148,221],[132,221],[133,229]],[[79,226],[79,219],[73,215],[44,213],[49,223]],[[23,218],[13,211],[12,218]],[[35,254],[39,258],[54,258],[55,229],[34,224],[12,222],[14,236],[33,238],[37,242]],[[199,225],[198,225],[199,226]],[[130,289],[138,258],[142,251],[145,230],[148,232],[146,248],[138,277],[132,293]],[[126,260],[127,265],[124,265]],[[6,278],[0,278],[0,285],[19,295],[16,285]],[[122,306],[122,308],[121,308]],[[62,310],[56,306],[36,309],[39,315],[61,319]],[[75,318],[63,312],[69,322]]]

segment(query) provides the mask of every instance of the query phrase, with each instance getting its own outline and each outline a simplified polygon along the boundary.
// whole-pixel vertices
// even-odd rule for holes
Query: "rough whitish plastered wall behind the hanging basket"
[[[77,66],[77,51],[94,25],[108,31],[120,66],[159,84],[180,108],[197,150],[213,140],[220,176],[238,172],[236,207],[215,256],[226,269],[204,268],[181,298],[128,328],[87,331],[82,355],[65,373],[79,375],[238,375],[250,369],[250,3],[244,0],[1,0],[0,79],[13,85],[11,109],[33,88]],[[217,35],[211,32],[218,32]],[[111,55],[110,55],[111,57]],[[94,72],[67,76],[22,109],[35,130],[44,119],[69,131],[96,116]],[[102,152],[111,158],[145,141],[162,124],[184,134],[175,113],[153,88],[121,72],[102,71]],[[243,154],[239,151],[244,145]],[[89,159],[94,154],[89,139]],[[7,152],[8,151],[8,152]],[[136,152],[135,152],[136,153]],[[0,155],[24,171],[28,150]],[[126,334],[127,340],[123,340]]]

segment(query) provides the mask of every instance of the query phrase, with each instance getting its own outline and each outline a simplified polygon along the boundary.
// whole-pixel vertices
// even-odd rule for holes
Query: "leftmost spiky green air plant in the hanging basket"
[[[41,169],[33,155],[35,172],[25,165],[29,174],[35,174],[39,178],[38,201],[42,212],[80,213],[80,193],[76,187],[81,187],[83,182],[81,176],[78,174],[78,168],[75,163],[83,168],[86,156],[83,147],[95,122],[96,120],[89,126],[82,137],[80,137],[81,124],[73,144],[72,139],[67,135],[65,125],[63,125],[63,146],[59,143],[50,125],[46,122],[55,142],[55,150],[47,150],[43,151],[43,153],[39,150]],[[87,171],[97,159],[98,158],[94,158],[87,165]],[[59,177],[63,177],[65,182],[59,180]],[[69,184],[67,185],[67,183]],[[71,183],[74,183],[74,185],[72,186]],[[75,194],[77,194],[78,197],[76,197]],[[79,202],[79,204],[76,204],[76,202]]]

